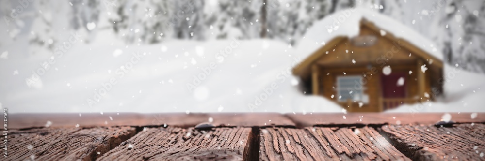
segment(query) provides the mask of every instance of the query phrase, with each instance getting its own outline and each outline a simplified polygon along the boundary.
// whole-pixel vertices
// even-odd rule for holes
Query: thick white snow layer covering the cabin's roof
[[[298,44],[298,54],[302,58],[307,58],[336,37],[352,38],[357,36],[360,32],[359,24],[363,19],[370,21],[386,33],[391,33],[395,37],[419,47],[436,59],[443,60],[443,55],[436,49],[436,44],[420,33],[387,15],[364,8],[342,10],[315,22]]]

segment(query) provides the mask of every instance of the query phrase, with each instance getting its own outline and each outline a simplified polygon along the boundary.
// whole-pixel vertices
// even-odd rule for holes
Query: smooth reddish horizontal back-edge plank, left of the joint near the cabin
[[[295,124],[291,119],[279,113],[89,113],[89,114],[12,114],[9,127],[12,129],[44,127],[49,121],[50,127],[72,128],[92,126],[172,126],[193,127],[199,123],[209,122],[216,126],[269,126]]]

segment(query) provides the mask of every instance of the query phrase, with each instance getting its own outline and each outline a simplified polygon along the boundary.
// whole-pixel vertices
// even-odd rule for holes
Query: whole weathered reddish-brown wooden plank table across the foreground
[[[485,161],[485,114],[450,113],[453,124],[435,126],[443,116],[11,114],[6,160]]]

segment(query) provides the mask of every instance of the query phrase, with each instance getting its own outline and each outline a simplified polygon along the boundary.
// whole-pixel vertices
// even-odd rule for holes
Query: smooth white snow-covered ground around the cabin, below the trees
[[[290,70],[304,57],[271,40],[77,43],[62,57],[26,58],[18,50],[2,48],[9,54],[0,59],[0,103],[12,113],[342,112],[303,94]],[[35,81],[37,71],[46,72]],[[444,73],[443,98],[388,112],[485,112],[485,75],[451,66]]]

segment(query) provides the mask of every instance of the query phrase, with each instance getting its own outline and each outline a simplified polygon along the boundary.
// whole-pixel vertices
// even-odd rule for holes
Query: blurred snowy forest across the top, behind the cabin
[[[435,42],[447,63],[485,72],[485,0],[1,0],[0,46],[49,53],[71,31],[88,44],[237,37],[295,45],[313,22],[350,7],[393,17]]]

